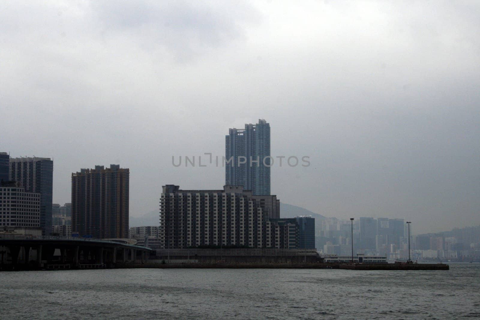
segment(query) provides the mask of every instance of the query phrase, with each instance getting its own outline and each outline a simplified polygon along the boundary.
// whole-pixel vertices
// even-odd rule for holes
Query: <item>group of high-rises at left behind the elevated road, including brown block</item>
[[[72,173],[72,202],[52,203],[53,161],[0,152],[0,228],[24,235],[127,238],[129,169]]]

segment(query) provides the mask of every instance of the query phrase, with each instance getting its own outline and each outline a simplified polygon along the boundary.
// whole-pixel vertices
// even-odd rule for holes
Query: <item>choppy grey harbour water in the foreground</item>
[[[0,273],[0,319],[475,319],[480,263],[450,271]]]

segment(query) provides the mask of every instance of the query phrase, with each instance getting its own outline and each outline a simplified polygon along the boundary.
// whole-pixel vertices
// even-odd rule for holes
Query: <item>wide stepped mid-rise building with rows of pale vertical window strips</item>
[[[267,199],[268,197],[272,199]],[[295,218],[279,219],[269,210],[276,196],[255,198],[243,186],[223,190],[180,190],[163,186],[159,237],[162,248],[243,247],[297,249]]]

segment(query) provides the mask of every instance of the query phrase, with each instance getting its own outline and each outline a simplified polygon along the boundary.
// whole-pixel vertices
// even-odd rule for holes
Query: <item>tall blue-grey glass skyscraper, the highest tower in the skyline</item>
[[[229,129],[225,138],[225,184],[269,195],[270,124],[259,119],[257,124],[245,124],[245,129]]]

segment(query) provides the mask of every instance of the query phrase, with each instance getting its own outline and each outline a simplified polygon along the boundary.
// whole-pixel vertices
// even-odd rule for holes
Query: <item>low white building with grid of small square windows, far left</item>
[[[0,182],[0,227],[40,228],[41,194],[20,182]]]

